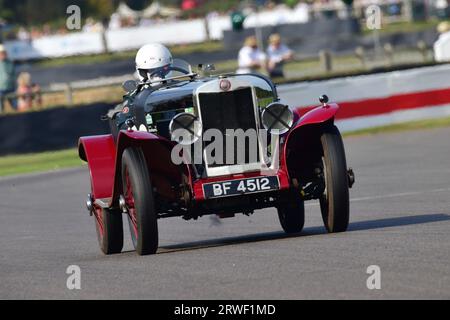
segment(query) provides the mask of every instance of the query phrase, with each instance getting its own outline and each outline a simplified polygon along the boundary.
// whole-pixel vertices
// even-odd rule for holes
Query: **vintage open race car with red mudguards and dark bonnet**
[[[200,76],[182,61],[164,80],[124,88],[108,113],[111,134],[79,140],[105,254],[122,250],[123,214],[140,255],[157,251],[157,221],[166,217],[274,207],[284,231],[297,233],[304,201],[318,199],[326,229],[347,229],[354,175],[334,125],[339,107],[326,96],[304,114],[264,76]]]

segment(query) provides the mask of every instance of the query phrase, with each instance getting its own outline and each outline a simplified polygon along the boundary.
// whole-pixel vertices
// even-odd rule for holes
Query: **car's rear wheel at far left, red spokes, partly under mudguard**
[[[120,253],[123,248],[122,213],[117,210],[95,208],[95,229],[104,254]]]

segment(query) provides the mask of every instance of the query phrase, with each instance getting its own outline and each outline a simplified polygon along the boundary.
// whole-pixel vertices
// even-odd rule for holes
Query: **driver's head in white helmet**
[[[169,49],[159,43],[146,44],[136,54],[136,71],[141,81],[164,79],[172,63]]]

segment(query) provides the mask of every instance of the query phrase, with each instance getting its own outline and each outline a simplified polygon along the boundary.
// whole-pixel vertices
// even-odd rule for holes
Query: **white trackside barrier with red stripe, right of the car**
[[[279,95],[305,112],[327,94],[341,109],[342,131],[450,115],[450,65],[280,86]]]

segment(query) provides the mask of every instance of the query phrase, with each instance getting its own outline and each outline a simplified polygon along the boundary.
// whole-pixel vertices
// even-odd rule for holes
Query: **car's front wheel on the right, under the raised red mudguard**
[[[343,232],[349,223],[349,185],[344,143],[336,126],[321,136],[325,191],[320,198],[323,222],[328,232]]]

